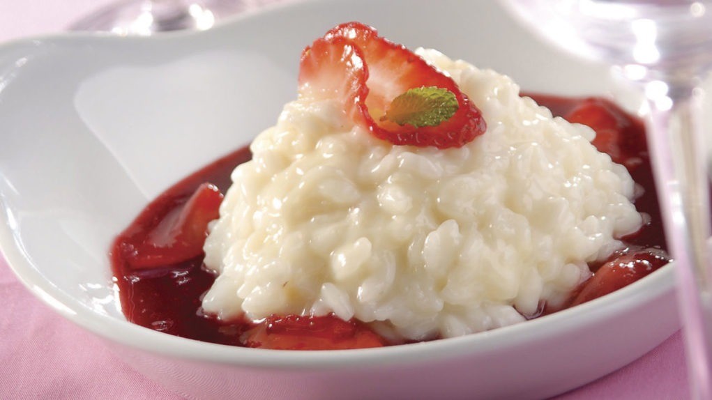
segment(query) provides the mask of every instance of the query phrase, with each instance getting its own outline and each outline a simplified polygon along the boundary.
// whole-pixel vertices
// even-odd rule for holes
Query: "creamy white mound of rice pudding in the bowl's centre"
[[[461,147],[395,145],[339,99],[300,86],[211,223],[204,296],[222,320],[356,318],[392,340],[511,325],[556,305],[637,231],[634,181],[595,132],[522,98],[510,78],[417,54],[486,121]]]

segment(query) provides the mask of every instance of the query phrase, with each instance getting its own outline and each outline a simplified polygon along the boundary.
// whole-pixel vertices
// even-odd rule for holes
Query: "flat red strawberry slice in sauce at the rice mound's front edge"
[[[337,350],[382,347],[384,340],[362,323],[344,321],[334,315],[272,315],[248,332],[246,345],[280,350]]]

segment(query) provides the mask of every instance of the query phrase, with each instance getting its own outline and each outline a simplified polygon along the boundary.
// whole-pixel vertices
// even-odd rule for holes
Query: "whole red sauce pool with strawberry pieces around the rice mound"
[[[572,293],[565,307],[622,288],[665,265],[669,258],[664,252],[660,210],[642,122],[602,98],[530,97],[549,107],[554,115],[593,127],[597,131],[593,143],[610,154],[615,162],[627,167],[634,181],[644,189],[635,200],[635,206],[639,212],[650,217],[649,223],[640,231],[622,238],[627,245],[624,251],[615,253],[607,262],[590,265],[595,271],[593,277]],[[209,182],[225,193],[231,184],[232,170],[250,158],[249,149],[245,147],[194,172],[152,201],[117,237],[110,257],[127,320],[170,335],[243,347],[345,349],[394,344],[379,337],[361,322],[342,321],[331,315],[271,316],[258,324],[243,320],[220,321],[204,315],[202,295],[210,288],[215,276],[204,268],[200,248],[204,241],[205,223],[215,218],[215,204],[219,202],[216,196],[219,194],[216,189],[207,190],[201,185]],[[201,196],[193,196],[199,188]],[[192,208],[197,211],[184,217],[182,210],[192,197],[192,204],[198,204]],[[165,221],[185,219],[198,222],[184,224],[179,233],[164,226]],[[185,233],[186,230],[189,232]],[[198,243],[191,239],[194,235],[191,236],[190,231],[201,234]],[[162,238],[154,240],[161,235]],[[147,242],[154,244],[147,245]],[[176,261],[171,252],[179,253],[178,258],[184,260]],[[150,260],[150,267],[137,262],[139,259]],[[556,311],[546,305],[541,308],[543,313]]]

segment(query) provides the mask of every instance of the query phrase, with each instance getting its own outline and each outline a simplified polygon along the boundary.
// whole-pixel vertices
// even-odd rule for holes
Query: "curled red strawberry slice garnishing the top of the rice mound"
[[[342,100],[352,120],[393,144],[461,147],[486,131],[481,112],[454,80],[362,23],[336,26],[306,48],[299,81],[310,95]],[[384,118],[395,98],[417,88],[453,93],[456,111],[433,126],[400,125]]]

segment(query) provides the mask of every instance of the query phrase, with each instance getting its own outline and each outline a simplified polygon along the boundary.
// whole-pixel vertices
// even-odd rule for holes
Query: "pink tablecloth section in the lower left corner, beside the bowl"
[[[0,258],[0,399],[179,399],[65,320]]]

